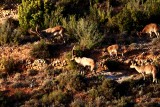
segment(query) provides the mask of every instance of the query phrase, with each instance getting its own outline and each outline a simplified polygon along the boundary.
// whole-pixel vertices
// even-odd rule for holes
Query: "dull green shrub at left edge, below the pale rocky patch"
[[[0,27],[0,45],[18,44],[20,42],[21,29],[18,21],[8,18]]]

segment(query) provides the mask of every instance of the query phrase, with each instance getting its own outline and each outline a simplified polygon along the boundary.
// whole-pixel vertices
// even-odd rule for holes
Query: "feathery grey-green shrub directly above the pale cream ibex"
[[[77,23],[76,34],[79,37],[79,45],[82,48],[91,49],[103,39],[99,33],[96,23],[80,19]]]

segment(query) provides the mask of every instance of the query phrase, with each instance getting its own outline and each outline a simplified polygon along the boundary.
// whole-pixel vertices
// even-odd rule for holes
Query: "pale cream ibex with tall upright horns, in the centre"
[[[90,66],[90,70],[93,71],[95,68],[94,60],[91,58],[87,58],[87,57],[76,57],[75,55],[73,55],[74,48],[75,46],[72,49],[72,59],[71,60],[75,60],[76,63],[82,65],[83,67]]]

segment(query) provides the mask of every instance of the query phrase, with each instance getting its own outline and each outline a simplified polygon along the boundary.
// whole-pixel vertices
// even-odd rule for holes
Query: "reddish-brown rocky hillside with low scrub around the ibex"
[[[1,6],[1,25],[8,18],[18,20],[18,5]],[[97,6],[106,7],[104,2]],[[114,6],[114,14],[123,7]],[[138,36],[135,31],[106,31],[103,35],[101,43],[91,49],[80,47],[83,43],[72,38],[64,44],[53,43],[28,32],[21,34],[17,44],[1,43],[0,106],[159,106],[160,39],[154,34],[152,38]],[[115,43],[125,48],[118,50],[117,56],[110,56],[107,47]],[[94,59],[95,72],[71,61],[74,46],[80,57]],[[143,80],[141,74],[130,68],[132,61],[139,66],[156,66],[158,83],[152,83],[151,75]]]

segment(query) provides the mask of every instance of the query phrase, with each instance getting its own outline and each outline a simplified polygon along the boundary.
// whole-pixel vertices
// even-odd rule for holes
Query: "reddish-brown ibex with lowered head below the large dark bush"
[[[155,35],[157,36],[157,38],[159,37],[159,32],[160,32],[160,27],[156,24],[156,23],[150,23],[148,25],[146,25],[142,31],[140,31],[138,33],[139,36],[141,36],[142,34],[148,34],[151,37],[152,33],[155,33]]]

